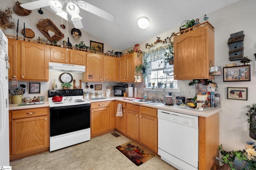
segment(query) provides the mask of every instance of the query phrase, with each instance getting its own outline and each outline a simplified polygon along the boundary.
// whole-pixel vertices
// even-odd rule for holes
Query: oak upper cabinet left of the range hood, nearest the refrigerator
[[[38,43],[8,39],[9,80],[48,81],[49,47]]]

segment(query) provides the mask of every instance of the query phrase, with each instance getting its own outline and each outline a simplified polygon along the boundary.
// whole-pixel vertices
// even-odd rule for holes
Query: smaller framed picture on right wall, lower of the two
[[[227,87],[227,99],[248,100],[248,88]]]

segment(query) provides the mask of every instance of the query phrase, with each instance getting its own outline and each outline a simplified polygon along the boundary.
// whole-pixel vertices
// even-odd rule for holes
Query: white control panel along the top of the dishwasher
[[[198,116],[186,115],[182,113],[176,113],[173,111],[166,111],[158,109],[158,119],[164,119],[167,121],[176,122],[182,125],[198,128]]]

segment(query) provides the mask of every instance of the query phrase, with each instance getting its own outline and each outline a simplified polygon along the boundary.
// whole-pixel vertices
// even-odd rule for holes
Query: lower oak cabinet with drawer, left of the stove
[[[49,150],[49,107],[9,111],[10,160]]]

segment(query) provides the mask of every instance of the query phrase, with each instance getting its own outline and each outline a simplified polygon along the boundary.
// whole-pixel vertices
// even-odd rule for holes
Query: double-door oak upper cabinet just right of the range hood
[[[87,53],[85,82],[116,82],[116,57]]]

